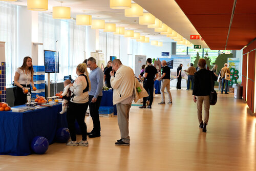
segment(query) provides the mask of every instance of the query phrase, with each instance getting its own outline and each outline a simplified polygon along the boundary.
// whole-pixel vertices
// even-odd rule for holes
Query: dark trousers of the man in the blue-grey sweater
[[[100,121],[99,121],[99,106],[102,96],[98,96],[96,102],[92,102],[94,96],[89,95],[89,108],[90,115],[93,119],[93,130],[92,133],[100,134]]]

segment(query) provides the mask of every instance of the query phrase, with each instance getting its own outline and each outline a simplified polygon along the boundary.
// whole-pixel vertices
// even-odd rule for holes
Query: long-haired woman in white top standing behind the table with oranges
[[[32,59],[29,56],[26,56],[23,59],[23,65],[19,68],[17,68],[15,75],[14,75],[14,84],[16,87],[15,92],[15,102],[14,105],[22,105],[27,103],[27,93],[25,93],[25,88],[30,88],[30,84],[33,87],[33,65],[32,65]]]

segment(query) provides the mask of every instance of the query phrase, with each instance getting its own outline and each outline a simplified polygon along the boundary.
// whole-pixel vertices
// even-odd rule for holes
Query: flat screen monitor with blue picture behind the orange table
[[[59,72],[59,55],[57,57],[56,63],[56,51],[48,51],[44,50],[45,57],[45,72],[46,73],[55,73],[57,69],[57,73]],[[55,63],[57,66],[55,66]]]

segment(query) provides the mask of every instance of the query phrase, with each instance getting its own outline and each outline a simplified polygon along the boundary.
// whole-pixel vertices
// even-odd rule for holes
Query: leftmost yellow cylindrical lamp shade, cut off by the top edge
[[[28,0],[27,1],[28,10],[33,11],[47,11],[48,10],[48,0]]]

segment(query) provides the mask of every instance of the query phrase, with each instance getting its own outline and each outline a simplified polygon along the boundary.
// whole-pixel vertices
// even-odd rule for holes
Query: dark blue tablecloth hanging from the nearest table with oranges
[[[67,127],[66,114],[60,115],[61,104],[27,112],[0,112],[0,155],[26,156],[32,154],[35,136],[54,142],[60,127]]]

